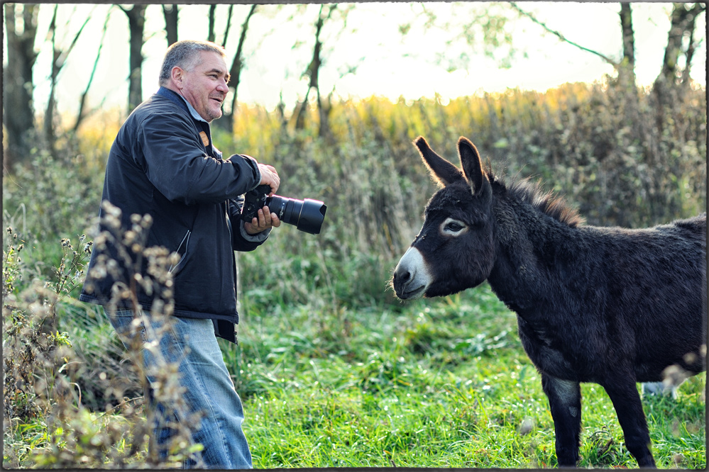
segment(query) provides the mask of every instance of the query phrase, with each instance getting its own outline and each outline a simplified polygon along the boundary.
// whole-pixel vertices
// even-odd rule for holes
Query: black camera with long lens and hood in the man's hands
[[[277,195],[268,196],[270,191],[270,186],[259,185],[246,192],[241,208],[241,220],[251,222],[258,214],[259,208],[268,206],[271,213],[278,215],[278,219],[283,223],[294,225],[298,230],[309,232],[311,235],[319,234],[327,209],[323,202],[311,198],[296,200]]]

